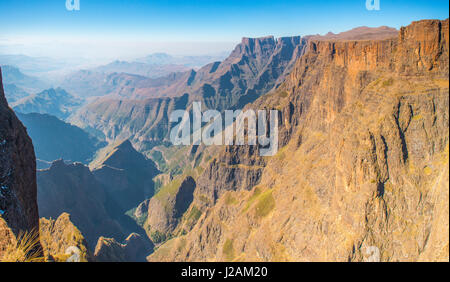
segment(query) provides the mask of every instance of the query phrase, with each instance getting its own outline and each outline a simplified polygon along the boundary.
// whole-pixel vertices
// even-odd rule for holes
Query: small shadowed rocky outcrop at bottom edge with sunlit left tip
[[[153,249],[148,241],[133,233],[123,244],[114,239],[100,237],[95,247],[95,259],[99,262],[143,262]]]

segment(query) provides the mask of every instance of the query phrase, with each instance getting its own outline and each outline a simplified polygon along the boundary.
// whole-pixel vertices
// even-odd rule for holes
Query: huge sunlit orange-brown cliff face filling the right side
[[[284,84],[251,105],[281,110],[278,154],[250,160],[261,173],[242,186],[233,171],[248,154],[219,153],[194,200],[213,201],[148,259],[363,261],[375,250],[448,261],[448,28],[310,41]],[[224,183],[202,185],[221,170]]]

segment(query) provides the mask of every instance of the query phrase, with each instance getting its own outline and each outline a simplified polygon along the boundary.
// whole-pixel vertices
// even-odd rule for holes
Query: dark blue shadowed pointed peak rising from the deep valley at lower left
[[[154,163],[128,141],[100,150],[91,169],[55,161],[37,173],[40,216],[57,218],[69,213],[92,252],[101,236],[123,242],[126,235],[137,233],[151,244],[125,212],[153,195],[152,179],[157,173]]]

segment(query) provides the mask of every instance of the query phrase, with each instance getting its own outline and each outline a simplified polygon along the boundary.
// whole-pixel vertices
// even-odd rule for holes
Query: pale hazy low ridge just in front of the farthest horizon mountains
[[[114,61],[110,64],[97,67],[93,71],[102,73],[129,73],[142,75],[150,78],[166,76],[173,72],[184,72],[189,70],[184,65],[176,64],[147,64],[140,62]]]

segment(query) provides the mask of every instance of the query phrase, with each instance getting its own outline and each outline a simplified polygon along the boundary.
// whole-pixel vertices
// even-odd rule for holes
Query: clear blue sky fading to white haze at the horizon
[[[325,34],[358,26],[399,28],[448,18],[447,0],[1,0],[0,53],[53,57],[200,55],[230,51],[242,37]],[[373,0],[377,1],[377,0]]]

